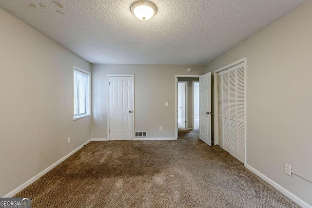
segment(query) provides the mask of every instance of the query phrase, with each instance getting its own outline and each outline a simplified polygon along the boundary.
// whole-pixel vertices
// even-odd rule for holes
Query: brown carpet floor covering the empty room
[[[297,208],[218,146],[177,141],[90,142],[15,197],[33,208]]]

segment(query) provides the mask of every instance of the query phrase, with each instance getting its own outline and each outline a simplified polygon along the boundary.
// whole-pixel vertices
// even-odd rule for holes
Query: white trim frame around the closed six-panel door
[[[135,135],[135,82],[134,82],[134,75],[117,75],[117,74],[108,74],[107,75],[107,81],[106,81],[106,86],[107,86],[107,139],[109,139],[109,77],[111,76],[128,76],[132,77],[132,140]]]

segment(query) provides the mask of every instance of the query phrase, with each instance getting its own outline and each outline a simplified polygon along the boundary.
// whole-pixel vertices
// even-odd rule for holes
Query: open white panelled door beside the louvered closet
[[[199,76],[199,139],[211,146],[211,73]]]

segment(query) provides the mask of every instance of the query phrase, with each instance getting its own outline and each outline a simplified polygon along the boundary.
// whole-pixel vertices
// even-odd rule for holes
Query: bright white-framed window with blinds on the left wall
[[[73,120],[90,116],[90,73],[73,67]]]

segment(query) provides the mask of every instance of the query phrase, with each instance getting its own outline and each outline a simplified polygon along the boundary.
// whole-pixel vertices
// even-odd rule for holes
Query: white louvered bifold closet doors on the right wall
[[[218,144],[245,162],[244,63],[217,73]]]

